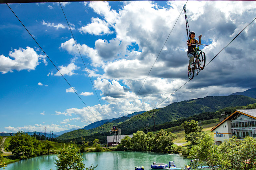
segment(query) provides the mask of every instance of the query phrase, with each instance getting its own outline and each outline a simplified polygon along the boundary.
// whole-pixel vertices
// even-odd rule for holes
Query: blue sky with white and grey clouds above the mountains
[[[63,131],[148,111],[188,81],[186,1],[0,4],[0,132]],[[255,1],[188,1],[206,63],[256,16]],[[144,79],[153,66],[139,95]],[[192,81],[158,107],[255,87],[256,21]],[[198,39],[198,38],[197,38]],[[100,105],[100,103],[102,105]],[[133,103],[133,104],[132,104]],[[89,109],[90,110],[89,110]],[[104,109],[104,111],[103,111]]]

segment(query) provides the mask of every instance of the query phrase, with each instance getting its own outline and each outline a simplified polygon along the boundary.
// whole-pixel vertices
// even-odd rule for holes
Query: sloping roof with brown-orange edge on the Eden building
[[[220,122],[219,124],[217,124],[216,126],[214,126],[214,128],[211,129],[211,132],[214,131],[214,129],[216,129],[217,127],[219,127],[222,123],[231,120],[233,117],[235,117],[237,114],[243,114],[246,116],[249,116],[253,119],[256,119],[256,109],[244,109],[244,110],[236,110],[234,113],[232,113],[231,115],[229,115],[226,119],[224,119],[222,122]]]

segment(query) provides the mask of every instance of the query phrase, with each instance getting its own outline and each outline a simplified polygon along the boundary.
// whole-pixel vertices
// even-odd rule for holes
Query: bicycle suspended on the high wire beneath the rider
[[[196,45],[197,49],[196,49],[196,52],[193,54],[194,60],[191,65],[192,68],[187,69],[188,78],[190,80],[193,79],[195,75],[195,70],[196,70],[196,75],[198,75],[198,70],[203,70],[205,66],[205,53],[199,49],[199,46],[208,46],[206,44],[193,44],[193,45]]]

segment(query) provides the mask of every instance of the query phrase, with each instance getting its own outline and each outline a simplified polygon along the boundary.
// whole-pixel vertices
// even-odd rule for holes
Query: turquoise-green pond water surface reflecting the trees
[[[151,170],[153,162],[167,163],[174,161],[177,167],[184,167],[189,164],[190,159],[178,154],[162,154],[154,152],[133,152],[133,151],[113,151],[113,152],[86,152],[83,153],[85,167],[98,164],[95,170],[134,170],[135,166],[144,166],[145,170]],[[6,170],[56,170],[54,164],[55,155],[43,155],[28,160],[21,160],[10,163]]]

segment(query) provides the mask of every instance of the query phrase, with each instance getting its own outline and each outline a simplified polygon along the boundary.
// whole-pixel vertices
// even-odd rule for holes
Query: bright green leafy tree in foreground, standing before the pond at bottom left
[[[82,156],[77,153],[76,143],[70,142],[68,146],[61,148],[55,159],[56,170],[83,170],[85,164]],[[95,167],[96,168],[96,167]]]

